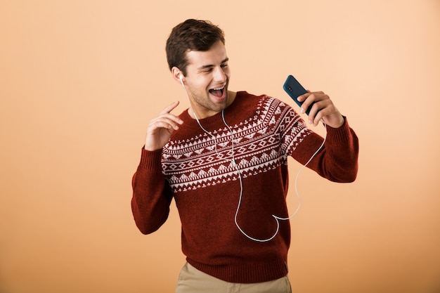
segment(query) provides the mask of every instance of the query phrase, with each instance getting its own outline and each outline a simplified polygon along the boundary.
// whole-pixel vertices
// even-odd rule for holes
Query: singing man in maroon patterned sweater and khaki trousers
[[[290,292],[287,157],[306,164],[323,138],[289,105],[269,96],[228,91],[224,33],[186,20],[167,40],[172,77],[190,107],[172,103],[151,120],[133,177],[131,207],[142,233],[167,220],[172,198],[187,263],[176,292]],[[335,182],[354,181],[358,139],[332,100],[309,92],[309,123],[328,128],[307,167]]]

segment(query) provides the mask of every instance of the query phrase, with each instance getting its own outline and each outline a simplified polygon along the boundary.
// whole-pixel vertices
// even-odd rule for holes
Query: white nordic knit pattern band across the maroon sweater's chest
[[[162,152],[162,167],[174,193],[237,180],[233,158],[243,178],[287,163],[310,131],[284,103],[268,97],[257,101],[255,115],[231,125],[232,134],[226,121],[212,134],[172,138]]]

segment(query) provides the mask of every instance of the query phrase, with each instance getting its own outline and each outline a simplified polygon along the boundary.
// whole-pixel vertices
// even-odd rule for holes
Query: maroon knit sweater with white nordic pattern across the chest
[[[184,111],[183,126],[162,150],[142,149],[132,182],[134,219],[142,233],[153,233],[167,220],[174,197],[188,263],[228,282],[275,280],[287,274],[289,221],[280,221],[267,242],[243,235],[234,221],[240,176],[240,228],[257,239],[271,237],[277,229],[272,215],[289,216],[287,157],[305,164],[323,138],[289,105],[268,96],[240,91],[224,116],[232,135],[221,113],[200,120],[214,140]],[[330,181],[351,182],[357,162],[358,139],[346,121],[339,129],[328,127],[324,148],[308,167]]]

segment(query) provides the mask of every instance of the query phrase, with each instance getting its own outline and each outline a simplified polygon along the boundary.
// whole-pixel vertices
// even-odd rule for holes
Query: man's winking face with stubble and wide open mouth
[[[218,41],[209,51],[189,51],[186,57],[185,81],[191,108],[199,119],[221,112],[231,103],[228,100],[231,72],[224,44]]]

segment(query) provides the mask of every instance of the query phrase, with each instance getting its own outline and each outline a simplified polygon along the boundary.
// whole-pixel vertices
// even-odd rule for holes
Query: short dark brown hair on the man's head
[[[217,41],[225,44],[224,32],[208,20],[188,19],[176,25],[167,39],[169,70],[175,66],[186,75],[186,52],[208,51]]]

